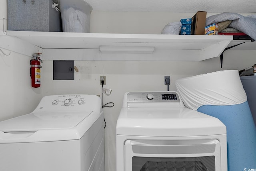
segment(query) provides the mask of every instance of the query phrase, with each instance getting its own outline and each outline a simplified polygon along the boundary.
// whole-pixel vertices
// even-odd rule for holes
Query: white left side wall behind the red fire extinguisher
[[[0,1],[0,49],[9,54],[10,51],[3,47],[15,45],[17,42],[15,39],[5,39],[2,18],[7,18],[6,11],[6,1]],[[6,20],[4,26],[6,29]],[[23,45],[18,46],[26,49]],[[28,51],[31,56],[33,52],[34,49]],[[41,88],[30,86],[30,59],[32,58],[13,51],[9,56],[0,51],[0,121],[32,112],[42,98]]]

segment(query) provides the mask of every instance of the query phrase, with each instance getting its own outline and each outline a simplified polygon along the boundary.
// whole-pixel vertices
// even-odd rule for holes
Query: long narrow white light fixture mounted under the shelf
[[[101,53],[153,53],[154,47],[142,46],[100,46]]]

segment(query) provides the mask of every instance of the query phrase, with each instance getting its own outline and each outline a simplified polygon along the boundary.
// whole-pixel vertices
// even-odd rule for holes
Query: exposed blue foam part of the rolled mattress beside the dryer
[[[248,102],[236,105],[204,105],[198,112],[220,119],[227,128],[228,171],[256,169],[256,127]]]

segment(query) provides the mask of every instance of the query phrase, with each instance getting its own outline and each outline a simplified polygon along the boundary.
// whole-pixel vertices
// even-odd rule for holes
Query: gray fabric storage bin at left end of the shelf
[[[8,0],[8,30],[62,31],[59,0]]]

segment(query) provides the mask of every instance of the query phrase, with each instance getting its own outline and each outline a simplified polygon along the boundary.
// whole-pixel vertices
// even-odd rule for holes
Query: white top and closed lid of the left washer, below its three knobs
[[[0,122],[0,143],[78,140],[100,114],[35,112]]]

